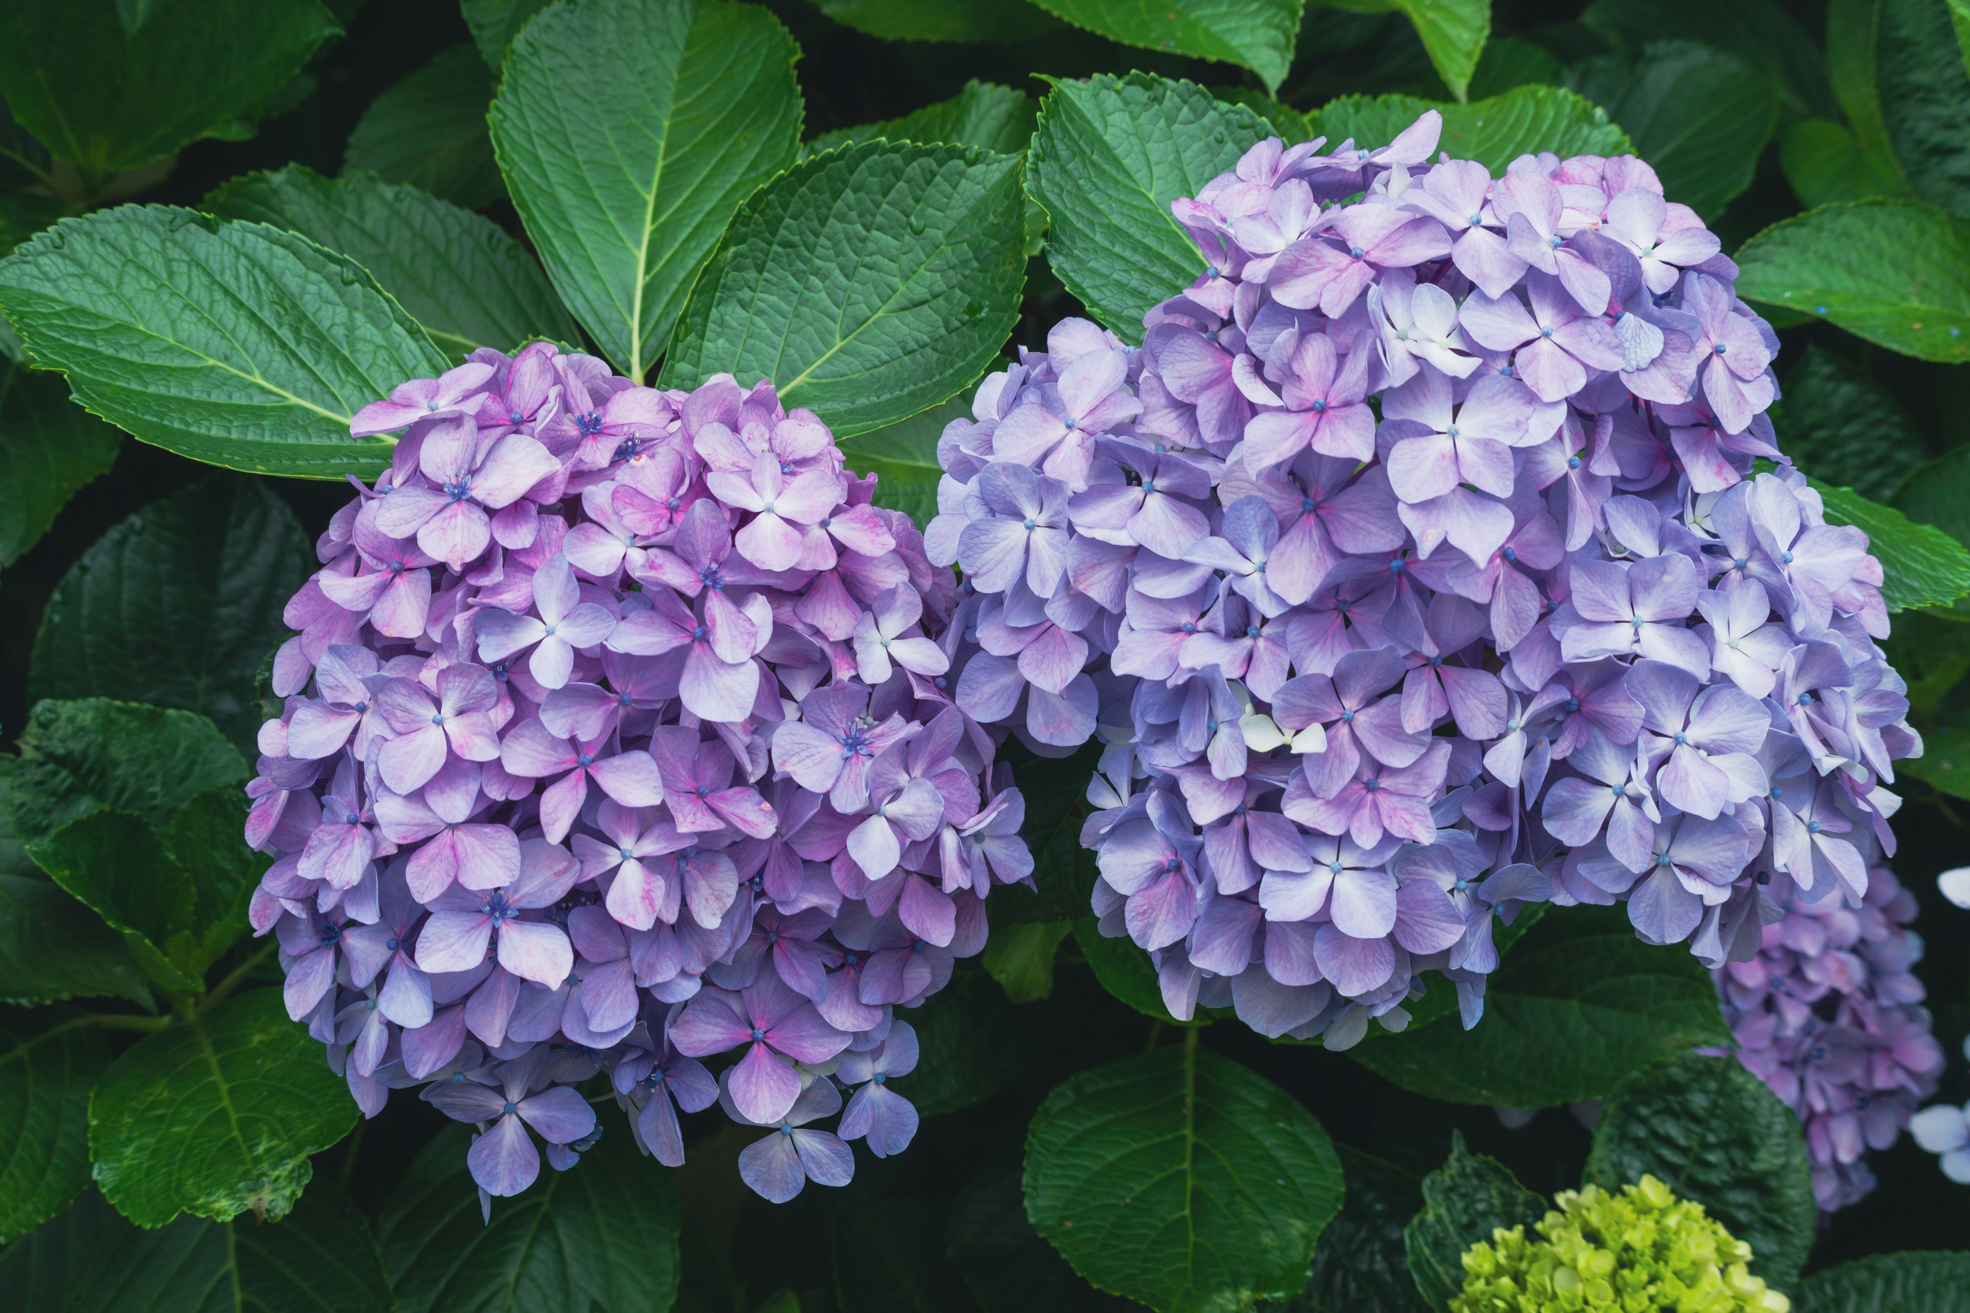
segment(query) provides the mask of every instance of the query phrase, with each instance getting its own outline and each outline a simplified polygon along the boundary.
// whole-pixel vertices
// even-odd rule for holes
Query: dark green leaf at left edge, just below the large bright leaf
[[[0,567],[55,524],[79,488],[108,474],[122,433],[69,402],[59,378],[0,362]]]

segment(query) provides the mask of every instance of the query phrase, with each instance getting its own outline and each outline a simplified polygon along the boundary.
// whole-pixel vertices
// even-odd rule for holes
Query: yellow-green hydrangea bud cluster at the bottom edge
[[[1655,1177],[1609,1195],[1564,1191],[1558,1211],[1499,1226],[1464,1252],[1464,1293],[1450,1313],[1787,1313],[1791,1301],[1745,1268],[1751,1246],[1700,1203],[1676,1199]]]

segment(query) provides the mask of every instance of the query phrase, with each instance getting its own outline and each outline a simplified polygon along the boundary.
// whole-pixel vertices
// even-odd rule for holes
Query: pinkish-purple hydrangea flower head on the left
[[[896,1010],[1032,870],[946,693],[952,573],[770,384],[536,343],[353,425],[388,431],[288,604],[248,789],[290,1016],[366,1114],[424,1087],[475,1122],[491,1195],[534,1136],[575,1161],[597,1075],[666,1163],[678,1108],[770,1128],[741,1171],[774,1201],[845,1183],[847,1140],[902,1150]]]

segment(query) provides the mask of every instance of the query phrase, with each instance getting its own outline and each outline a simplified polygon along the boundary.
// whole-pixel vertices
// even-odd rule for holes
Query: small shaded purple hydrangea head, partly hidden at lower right
[[[1781,915],[1751,961],[1714,972],[1718,994],[1738,1061],[1805,1124],[1812,1193],[1832,1213],[1873,1189],[1866,1152],[1901,1136],[1942,1073],[1913,972],[1915,898],[1885,866],[1858,902],[1808,902],[1787,876],[1767,892]]]

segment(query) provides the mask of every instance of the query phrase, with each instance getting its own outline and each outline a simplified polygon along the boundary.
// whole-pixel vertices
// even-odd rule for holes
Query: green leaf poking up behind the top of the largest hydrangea
[[[1308,122],[1330,144],[1353,138],[1375,148],[1397,138],[1424,110],[1444,116],[1440,150],[1454,159],[1476,159],[1495,175],[1525,154],[1550,150],[1560,156],[1619,156],[1631,150],[1627,134],[1602,110],[1564,87],[1519,87],[1476,104],[1444,104],[1418,96],[1342,96],[1328,100]],[[1318,120],[1318,122],[1314,122]]]

